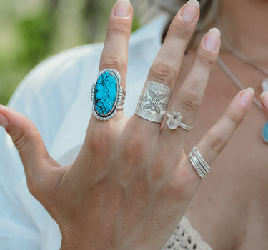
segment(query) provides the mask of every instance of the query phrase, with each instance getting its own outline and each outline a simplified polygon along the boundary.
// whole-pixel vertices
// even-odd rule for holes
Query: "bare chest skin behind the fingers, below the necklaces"
[[[182,76],[189,69],[193,56],[192,52],[186,56]],[[245,86],[254,87],[259,96],[262,74],[250,71],[251,68],[239,65],[234,59],[229,64],[239,80]],[[238,91],[222,69],[214,66],[194,121],[195,129],[189,133],[186,153],[222,116]],[[265,122],[262,111],[252,104],[185,214],[214,250],[268,248],[268,144],[261,138]]]

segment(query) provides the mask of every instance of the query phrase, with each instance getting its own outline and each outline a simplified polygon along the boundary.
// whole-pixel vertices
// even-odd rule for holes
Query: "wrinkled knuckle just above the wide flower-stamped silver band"
[[[149,73],[149,79],[157,79],[167,86],[173,86],[177,78],[177,71],[166,62],[155,62]]]

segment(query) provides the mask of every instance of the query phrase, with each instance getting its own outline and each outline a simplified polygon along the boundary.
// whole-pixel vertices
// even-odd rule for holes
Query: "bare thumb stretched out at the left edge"
[[[39,179],[48,165],[60,166],[49,156],[39,131],[24,114],[0,105],[0,126],[6,129],[19,151],[27,181]]]

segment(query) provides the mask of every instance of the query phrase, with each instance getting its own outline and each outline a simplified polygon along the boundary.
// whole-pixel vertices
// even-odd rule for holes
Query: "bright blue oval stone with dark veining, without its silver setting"
[[[94,109],[100,116],[109,116],[116,108],[119,83],[112,72],[104,72],[96,81]]]

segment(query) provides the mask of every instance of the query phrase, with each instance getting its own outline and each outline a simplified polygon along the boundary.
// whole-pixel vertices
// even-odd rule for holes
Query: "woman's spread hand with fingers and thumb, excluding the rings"
[[[184,51],[198,18],[194,1],[179,10],[147,81],[171,89],[179,84]],[[119,1],[111,12],[99,68],[119,71],[123,87],[131,19],[131,6]],[[218,31],[209,31],[174,93],[169,110],[181,112],[185,124],[192,124],[197,114],[219,46]],[[209,165],[244,119],[252,97],[251,89],[240,91],[197,145]],[[49,156],[34,124],[19,112],[0,106],[0,124],[19,151],[29,191],[59,224],[63,250],[161,249],[201,182],[184,154],[187,131],[137,115],[118,111],[109,121],[91,116],[81,151],[69,166]]]

